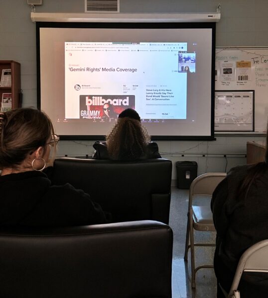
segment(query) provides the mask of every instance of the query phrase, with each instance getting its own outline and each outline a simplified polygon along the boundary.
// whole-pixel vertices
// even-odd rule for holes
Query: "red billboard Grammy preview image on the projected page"
[[[135,109],[135,95],[80,95],[80,119],[112,121],[127,108]]]

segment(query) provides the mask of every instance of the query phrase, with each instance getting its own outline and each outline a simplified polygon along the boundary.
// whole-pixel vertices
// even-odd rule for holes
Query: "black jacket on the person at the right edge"
[[[238,199],[236,195],[248,167],[244,165],[231,169],[215,189],[211,201],[217,230],[214,270],[227,291],[243,252],[258,241],[268,239],[268,169],[252,184],[246,200]],[[266,298],[267,278],[263,274],[243,274],[239,287],[241,297]]]

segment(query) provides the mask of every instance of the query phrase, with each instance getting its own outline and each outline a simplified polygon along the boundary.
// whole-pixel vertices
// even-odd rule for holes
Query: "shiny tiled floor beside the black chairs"
[[[173,230],[172,298],[215,298],[216,278],[213,269],[200,269],[196,274],[196,289],[191,288],[190,251],[184,262],[184,247],[187,224],[188,190],[172,187],[169,224]],[[205,198],[207,204],[210,199]],[[204,201],[204,202],[205,202]],[[214,232],[195,231],[195,239],[215,242]],[[195,248],[196,265],[213,264],[214,247]]]

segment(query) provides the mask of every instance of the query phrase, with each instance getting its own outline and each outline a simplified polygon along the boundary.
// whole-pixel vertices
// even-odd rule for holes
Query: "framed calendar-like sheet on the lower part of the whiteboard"
[[[254,131],[254,90],[215,91],[215,131]]]

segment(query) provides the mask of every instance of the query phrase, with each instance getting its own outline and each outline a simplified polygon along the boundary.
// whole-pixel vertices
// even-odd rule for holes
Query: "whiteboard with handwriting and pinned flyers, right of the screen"
[[[215,91],[255,90],[255,132],[268,120],[268,47],[216,48]]]

